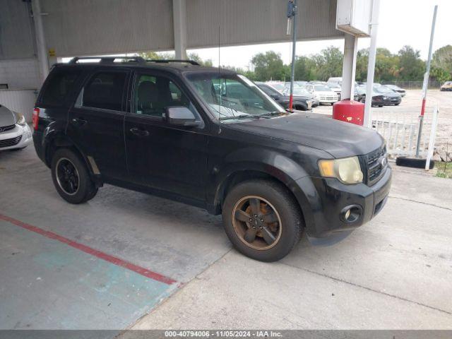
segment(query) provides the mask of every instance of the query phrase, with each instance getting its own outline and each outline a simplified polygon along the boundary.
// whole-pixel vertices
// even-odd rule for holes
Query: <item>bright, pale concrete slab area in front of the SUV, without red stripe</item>
[[[395,169],[392,192],[334,246],[230,251],[133,328],[451,329],[452,180]]]

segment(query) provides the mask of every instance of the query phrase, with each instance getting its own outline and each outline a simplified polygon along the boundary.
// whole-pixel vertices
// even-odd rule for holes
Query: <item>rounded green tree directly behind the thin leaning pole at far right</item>
[[[398,52],[400,70],[398,80],[422,81],[425,73],[425,61],[420,59],[420,52],[411,46],[404,46]]]

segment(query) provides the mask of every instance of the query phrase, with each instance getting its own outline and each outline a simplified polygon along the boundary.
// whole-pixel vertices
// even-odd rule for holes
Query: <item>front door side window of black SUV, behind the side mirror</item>
[[[164,76],[137,76],[133,96],[133,113],[162,117],[166,107],[184,106],[199,117],[188,97]]]

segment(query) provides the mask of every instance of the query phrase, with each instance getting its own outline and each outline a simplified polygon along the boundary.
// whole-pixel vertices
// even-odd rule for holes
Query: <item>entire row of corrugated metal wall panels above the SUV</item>
[[[0,0],[0,59],[33,54],[27,5]],[[186,0],[189,48],[290,41],[287,0]],[[57,57],[174,48],[172,0],[41,0]],[[341,37],[336,0],[299,0],[299,40]]]

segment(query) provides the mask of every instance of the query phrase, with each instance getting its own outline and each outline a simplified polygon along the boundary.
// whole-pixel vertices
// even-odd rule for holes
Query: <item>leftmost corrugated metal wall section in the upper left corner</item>
[[[32,58],[35,40],[28,4],[0,0],[0,60]]]

